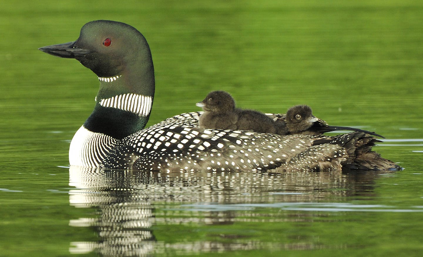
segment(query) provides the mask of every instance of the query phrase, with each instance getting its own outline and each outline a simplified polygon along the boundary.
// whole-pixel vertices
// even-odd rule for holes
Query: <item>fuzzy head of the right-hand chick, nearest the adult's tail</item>
[[[286,127],[292,134],[308,130],[318,119],[307,105],[296,105],[286,112]]]

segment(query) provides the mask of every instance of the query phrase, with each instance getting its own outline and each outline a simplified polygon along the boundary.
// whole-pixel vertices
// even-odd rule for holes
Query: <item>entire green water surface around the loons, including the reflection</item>
[[[4,3],[0,21],[2,256],[420,256],[421,1]],[[146,36],[156,71],[148,125],[199,110],[308,104],[331,125],[376,131],[406,169],[177,173],[66,168],[98,81],[37,50],[95,19]]]

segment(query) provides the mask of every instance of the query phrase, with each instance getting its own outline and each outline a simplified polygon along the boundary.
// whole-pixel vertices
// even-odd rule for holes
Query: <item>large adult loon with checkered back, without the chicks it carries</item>
[[[76,41],[39,50],[74,58],[99,79],[93,112],[71,140],[71,166],[162,172],[399,168],[371,151],[377,140],[363,132],[316,137],[202,129],[199,112],[145,128],[155,88],[151,51],[144,36],[122,22],[88,22]]]

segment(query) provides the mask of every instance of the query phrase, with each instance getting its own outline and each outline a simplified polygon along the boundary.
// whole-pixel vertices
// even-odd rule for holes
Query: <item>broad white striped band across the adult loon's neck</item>
[[[150,114],[153,98],[131,93],[101,99],[99,103],[102,107],[117,108],[140,116],[147,116]]]

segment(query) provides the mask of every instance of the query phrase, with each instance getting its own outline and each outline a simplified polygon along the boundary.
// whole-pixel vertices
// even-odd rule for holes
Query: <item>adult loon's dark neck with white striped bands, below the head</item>
[[[146,71],[146,69],[143,69]],[[84,127],[116,139],[146,126],[154,98],[154,71],[99,77],[96,105]]]

